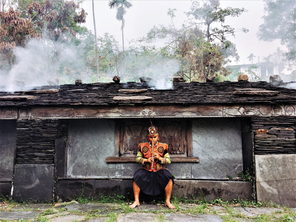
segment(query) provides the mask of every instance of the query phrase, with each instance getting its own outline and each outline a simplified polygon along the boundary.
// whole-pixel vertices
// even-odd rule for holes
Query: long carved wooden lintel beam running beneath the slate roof
[[[1,107],[0,119],[296,116],[296,104]]]

